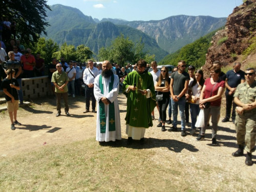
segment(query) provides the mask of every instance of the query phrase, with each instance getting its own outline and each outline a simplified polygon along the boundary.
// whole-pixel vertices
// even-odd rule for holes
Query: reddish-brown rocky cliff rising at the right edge
[[[220,60],[224,67],[234,61],[242,62],[246,66],[256,67],[255,58],[256,44],[256,0],[249,0],[241,6],[234,8],[228,16],[225,29],[218,31],[212,37],[212,46],[206,54],[204,71],[208,71],[215,60]],[[253,64],[254,62],[254,64]]]

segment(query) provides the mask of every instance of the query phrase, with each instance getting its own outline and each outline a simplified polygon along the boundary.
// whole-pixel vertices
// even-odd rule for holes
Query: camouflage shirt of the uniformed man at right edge
[[[247,82],[239,84],[236,92],[234,93],[234,97],[237,97],[245,104],[253,103],[256,100],[256,81],[254,81],[251,86],[249,86]],[[256,112],[256,108],[252,109],[252,111]]]

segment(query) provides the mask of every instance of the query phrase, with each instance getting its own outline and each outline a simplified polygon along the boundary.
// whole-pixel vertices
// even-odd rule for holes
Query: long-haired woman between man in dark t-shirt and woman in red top
[[[191,115],[191,130],[190,135],[194,135],[196,133],[196,122],[197,116],[199,115],[199,99],[201,95],[201,91],[204,86],[204,73],[202,70],[197,70],[194,76],[194,80],[189,83],[188,87],[188,95],[192,98],[189,100],[190,103],[190,115]]]

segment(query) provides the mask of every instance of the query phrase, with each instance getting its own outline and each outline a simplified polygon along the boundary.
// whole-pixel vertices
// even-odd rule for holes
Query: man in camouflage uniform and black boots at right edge
[[[232,156],[239,157],[247,152],[245,164],[252,165],[251,153],[255,151],[256,139],[256,81],[255,69],[245,70],[246,82],[239,84],[234,93],[234,102],[238,105],[236,108],[236,131],[238,151],[232,153]]]

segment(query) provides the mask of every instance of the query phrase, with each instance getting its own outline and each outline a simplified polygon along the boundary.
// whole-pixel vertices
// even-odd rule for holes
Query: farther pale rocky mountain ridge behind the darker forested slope
[[[127,25],[143,31],[155,38],[159,47],[169,53],[174,53],[201,36],[224,26],[226,23],[226,18],[187,15],[170,16],[162,20],[150,20],[147,22],[142,20],[127,22],[110,18],[103,18],[101,22],[105,20],[116,25]]]

